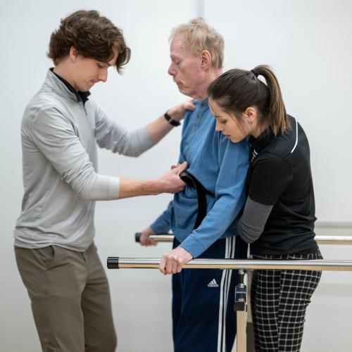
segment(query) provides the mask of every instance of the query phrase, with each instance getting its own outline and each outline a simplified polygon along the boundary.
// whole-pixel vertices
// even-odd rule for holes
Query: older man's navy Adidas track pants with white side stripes
[[[174,248],[180,243],[174,240]],[[218,239],[199,258],[246,258],[240,237]],[[172,275],[175,352],[230,352],[236,336],[237,270],[184,269]]]

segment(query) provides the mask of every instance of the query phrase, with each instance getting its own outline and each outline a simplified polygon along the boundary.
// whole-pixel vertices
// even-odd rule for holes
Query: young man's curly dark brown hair
[[[61,58],[68,56],[72,46],[80,55],[103,63],[111,61],[113,49],[118,49],[118,73],[130,61],[131,50],[125,43],[122,30],[98,11],[81,10],[63,18],[58,30],[51,33],[47,55],[57,65]]]

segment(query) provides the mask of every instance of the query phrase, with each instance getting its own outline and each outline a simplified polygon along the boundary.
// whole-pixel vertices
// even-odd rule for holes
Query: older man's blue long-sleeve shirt
[[[197,195],[194,188],[186,187],[175,194],[151,228],[156,234],[172,230],[180,246],[196,258],[217,239],[237,234],[235,225],[246,201],[249,145],[246,140],[234,144],[215,131],[208,99],[194,101],[194,105],[195,110],[184,118],[179,162],[187,161],[187,171],[215,198],[206,196],[206,218],[193,230]]]

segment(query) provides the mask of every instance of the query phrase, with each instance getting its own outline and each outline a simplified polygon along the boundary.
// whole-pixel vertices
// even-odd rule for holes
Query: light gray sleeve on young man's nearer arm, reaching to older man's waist
[[[36,113],[30,126],[30,136],[61,179],[83,199],[118,199],[120,179],[95,172],[73,125],[55,107],[42,108]]]

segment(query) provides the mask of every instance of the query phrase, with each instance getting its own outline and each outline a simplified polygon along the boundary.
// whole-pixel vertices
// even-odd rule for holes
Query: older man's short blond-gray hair
[[[201,54],[203,50],[208,50],[211,55],[211,63],[215,68],[222,68],[224,61],[224,39],[222,35],[210,27],[204,18],[198,17],[173,28],[169,40],[175,38],[177,34],[184,34],[187,49],[194,54]]]

